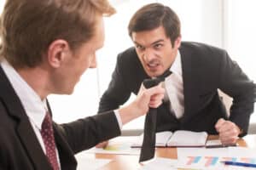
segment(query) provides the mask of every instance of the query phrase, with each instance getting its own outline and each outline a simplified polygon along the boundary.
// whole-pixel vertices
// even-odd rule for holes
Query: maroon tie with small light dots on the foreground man
[[[55,137],[53,133],[52,122],[48,112],[46,112],[44,122],[42,123],[41,135],[44,140],[46,156],[48,157],[51,167],[53,170],[60,170],[56,156]]]

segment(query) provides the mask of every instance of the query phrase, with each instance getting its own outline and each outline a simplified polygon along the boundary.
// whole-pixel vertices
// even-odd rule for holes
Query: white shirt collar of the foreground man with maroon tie
[[[38,94],[26,83],[26,81],[20,77],[20,74],[15,71],[12,65],[3,59],[1,62],[3,71],[9,79],[9,82],[15,89],[15,93],[20,98],[21,104],[23,105],[26,115],[35,124],[38,129],[41,129],[44,116],[47,111],[46,99],[40,99]]]

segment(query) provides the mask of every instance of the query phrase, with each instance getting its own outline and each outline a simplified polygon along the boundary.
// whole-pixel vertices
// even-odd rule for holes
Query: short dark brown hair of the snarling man
[[[150,3],[137,10],[131,17],[128,31],[131,37],[132,32],[150,31],[163,26],[166,37],[171,38],[172,46],[177,37],[180,36],[180,21],[177,14],[161,3]]]

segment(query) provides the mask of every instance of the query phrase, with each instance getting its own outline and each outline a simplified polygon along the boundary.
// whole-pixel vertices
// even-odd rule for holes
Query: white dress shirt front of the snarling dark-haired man
[[[171,103],[170,110],[174,112],[177,118],[181,118],[184,114],[184,95],[182,62],[179,51],[177,51],[176,59],[172,63],[170,71],[172,74],[165,80],[166,93]]]

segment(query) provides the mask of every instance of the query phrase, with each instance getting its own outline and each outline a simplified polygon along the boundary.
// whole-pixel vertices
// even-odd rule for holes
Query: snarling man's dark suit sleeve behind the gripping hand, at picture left
[[[127,83],[125,83],[125,77],[122,73],[122,71],[126,71],[124,65],[121,54],[119,54],[112,80],[100,100],[98,113],[118,109],[119,105],[123,105],[130,98],[131,90],[126,87]]]

